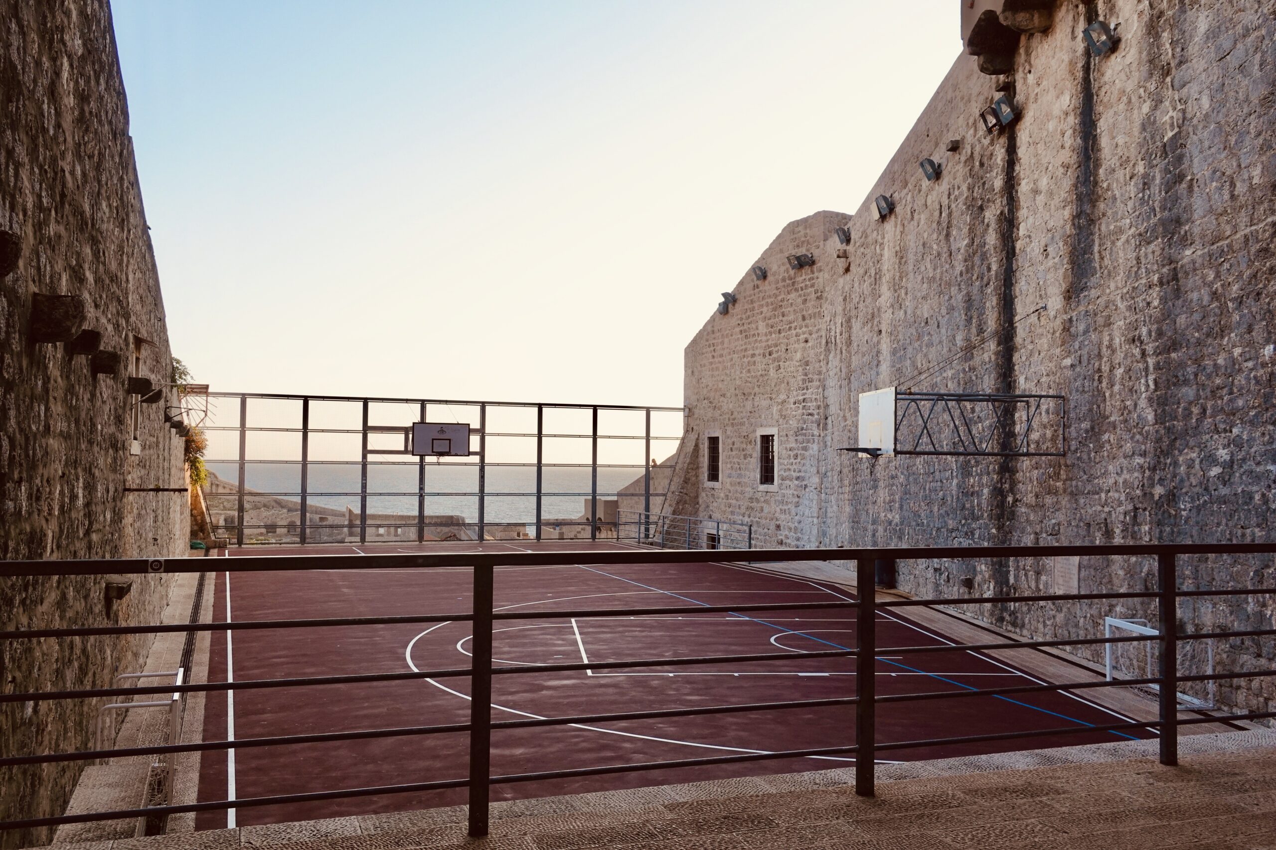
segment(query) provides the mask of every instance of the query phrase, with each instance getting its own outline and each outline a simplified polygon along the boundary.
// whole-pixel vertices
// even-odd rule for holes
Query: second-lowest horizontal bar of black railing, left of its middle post
[[[698,715],[744,714],[750,711],[782,711],[787,709],[819,709],[827,706],[855,705],[856,697],[837,697],[828,700],[800,700],[792,702],[757,702],[749,705],[707,706],[699,709],[655,709],[649,711],[623,711],[611,714],[587,714],[569,717],[537,717],[531,720],[498,720],[493,729],[528,729],[536,726],[563,726],[578,723],[612,723],[620,720],[651,720],[658,717],[693,717]],[[436,726],[397,726],[389,729],[362,729],[359,731],[330,731],[297,735],[274,735],[269,738],[236,738],[235,740],[202,740],[189,744],[157,744],[154,747],[124,747],[119,749],[82,749],[70,753],[48,753],[41,756],[9,756],[0,758],[0,767],[14,765],[46,765],[52,762],[91,761],[96,758],[128,758],[133,756],[165,756],[170,753],[207,752],[218,749],[248,749],[253,747],[288,747],[296,744],[322,744],[339,740],[369,740],[375,738],[403,738],[413,735],[433,735],[470,731],[468,723],[453,723]]]

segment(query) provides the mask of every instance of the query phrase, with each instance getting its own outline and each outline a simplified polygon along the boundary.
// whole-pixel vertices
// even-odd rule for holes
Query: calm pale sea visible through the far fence
[[[209,472],[235,482],[236,464],[211,463]],[[641,478],[641,466],[600,466],[598,497],[611,498],[616,491]],[[588,468],[545,466],[541,479],[541,516],[572,519],[584,514],[583,501],[590,496]],[[662,492],[653,478],[652,492]],[[369,514],[416,514],[419,469],[415,465],[388,464],[367,468]],[[285,463],[250,463],[245,466],[245,487],[262,493],[278,493],[297,498],[301,493],[301,465]],[[311,505],[359,510],[359,464],[310,464],[306,482]],[[425,464],[425,512],[457,515],[470,522],[478,520],[478,468],[461,464]],[[489,522],[533,522],[536,520],[536,469],[533,466],[489,465],[485,480],[485,519]],[[493,494],[498,493],[498,494]],[[509,493],[509,494],[501,494]],[[627,506],[629,507],[629,506]]]

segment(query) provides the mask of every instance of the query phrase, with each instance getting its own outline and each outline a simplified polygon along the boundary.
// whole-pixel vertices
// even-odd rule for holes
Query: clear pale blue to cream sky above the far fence
[[[172,350],[236,393],[680,405],[961,51],[952,0],[111,5]]]

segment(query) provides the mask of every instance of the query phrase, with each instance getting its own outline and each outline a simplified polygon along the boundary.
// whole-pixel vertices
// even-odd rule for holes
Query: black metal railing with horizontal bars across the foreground
[[[1178,672],[1178,644],[1184,640],[1203,638],[1230,638],[1230,637],[1266,637],[1276,635],[1276,630],[1238,630],[1208,632],[1180,633],[1178,626],[1178,601],[1189,596],[1247,596],[1276,594],[1276,587],[1224,587],[1224,589],[1179,589],[1176,581],[1176,558],[1180,556],[1243,556],[1243,554],[1273,554],[1276,544],[1110,544],[1110,545],[1021,545],[1021,547],[915,547],[915,548],[842,548],[842,549],[753,549],[749,552],[749,562],[768,563],[780,561],[852,561],[855,563],[855,576],[857,587],[870,587],[874,576],[882,571],[893,571],[898,561],[915,559],[988,559],[988,558],[1045,558],[1060,556],[1154,556],[1157,559],[1155,589],[1136,591],[1087,593],[1087,594],[1031,594],[1020,596],[962,596],[943,599],[875,599],[872,593],[861,593],[856,600],[846,601],[818,601],[818,603],[758,603],[745,605],[660,605],[642,608],[607,608],[607,609],[567,609],[567,610],[494,610],[493,586],[496,567],[504,566],[556,566],[587,561],[591,565],[679,565],[702,563],[703,552],[698,551],[611,551],[611,552],[503,552],[503,553],[464,553],[464,554],[380,554],[380,556],[305,556],[305,557],[244,557],[226,558],[217,563],[218,571],[226,572],[292,572],[309,570],[382,570],[396,568],[439,568],[439,567],[471,567],[473,609],[468,613],[450,614],[420,614],[396,617],[342,617],[342,618],[314,618],[314,619],[274,619],[274,621],[242,621],[242,622],[214,622],[214,623],[184,623],[184,624],[148,624],[148,626],[93,626],[71,628],[27,628],[0,632],[0,640],[32,640],[32,638],[64,638],[82,637],[89,635],[138,635],[138,633],[163,633],[163,632],[200,632],[200,631],[242,631],[242,630],[278,630],[278,628],[315,628],[338,626],[365,626],[387,623],[429,623],[445,621],[468,621],[473,623],[473,655],[468,666],[448,668],[436,670],[413,670],[403,673],[365,673],[350,675],[314,675],[276,679],[249,679],[237,682],[184,682],[177,686],[142,686],[129,688],[83,688],[75,691],[36,691],[27,693],[0,695],[0,703],[50,701],[50,700],[83,700],[100,697],[116,697],[144,693],[191,693],[191,692],[217,692],[217,691],[248,691],[262,688],[283,688],[301,686],[348,684],[369,682],[393,682],[426,678],[471,678],[471,715],[468,723],[453,723],[426,726],[399,726],[385,729],[362,729],[355,731],[322,733],[322,734],[296,734],[273,735],[262,738],[246,738],[236,740],[204,740],[194,743],[163,744],[153,747],[130,747],[121,749],[77,751],[64,753],[31,753],[31,754],[4,754],[0,757],[0,767],[19,765],[45,765],[54,762],[89,761],[96,758],[111,758],[122,756],[145,754],[172,754],[181,752],[209,752],[225,749],[246,749],[255,747],[296,746],[308,743],[341,742],[341,740],[366,740],[374,738],[399,738],[413,735],[430,735],[441,733],[468,733],[470,734],[470,763],[468,774],[464,777],[402,782],[394,785],[378,785],[371,788],[347,788],[328,791],[313,791],[302,794],[276,794],[269,796],[256,796],[234,800],[211,800],[203,803],[168,804],[158,807],[145,807],[134,809],[117,809],[108,812],[91,812],[82,814],[64,814],[56,817],[31,817],[26,819],[13,819],[0,822],[0,830],[15,830],[42,826],[57,826],[63,823],[83,823],[91,821],[122,819],[137,817],[166,817],[188,812],[209,812],[251,808],[260,805],[277,805],[287,803],[305,803],[316,800],[348,799],[373,795],[404,794],[413,791],[443,790],[443,789],[468,789],[470,802],[470,833],[482,836],[487,833],[487,804],[490,788],[493,785],[527,782],[549,779],[568,779],[582,776],[601,776],[607,774],[624,774],[648,770],[664,770],[672,767],[695,767],[707,765],[726,765],[734,762],[769,761],[783,758],[800,758],[813,756],[855,754],[855,793],[865,796],[874,794],[874,765],[877,753],[900,751],[920,747],[935,747],[940,744],[968,744],[997,740],[1026,740],[1040,737],[1055,737],[1076,733],[1096,731],[1123,731],[1123,730],[1156,730],[1160,733],[1160,761],[1162,765],[1178,763],[1178,726],[1201,723],[1228,723],[1238,720],[1263,720],[1276,717],[1276,711],[1249,711],[1230,715],[1198,715],[1187,719],[1179,717],[1176,692],[1182,683],[1244,679],[1276,675],[1276,669],[1258,669],[1247,672],[1212,673],[1206,675],[1180,675]],[[110,575],[110,573],[163,573],[163,572],[203,572],[209,567],[207,561],[188,558],[167,559],[85,559],[85,561],[14,561],[0,562],[0,577],[17,576],[70,576],[70,575]],[[926,646],[898,646],[879,647],[877,641],[877,610],[880,608],[907,608],[916,605],[986,605],[986,604],[1017,604],[1017,603],[1063,603],[1076,600],[1155,600],[1160,612],[1160,632],[1156,636],[1132,635],[1120,637],[1095,637],[1095,638],[1060,638],[1060,640],[1030,640],[1030,641],[994,641],[988,644],[935,644]],[[715,663],[767,663],[777,659],[792,659],[787,652],[748,654],[748,655],[720,655],[720,656],[689,656],[689,658],[657,658],[637,659],[623,661],[588,661],[570,664],[545,664],[536,666],[494,666],[491,655],[491,636],[494,623],[516,619],[554,619],[554,618],[590,618],[590,617],[616,617],[627,616],[653,616],[678,614],[694,612],[697,614],[712,612],[746,612],[746,610],[806,610],[806,609],[836,609],[846,608],[856,612],[857,640],[855,649],[837,649],[826,651],[804,652],[803,658],[854,658],[855,679],[857,693],[855,696],[823,698],[823,700],[791,700],[743,705],[723,705],[695,709],[669,709],[646,710],[625,712],[601,712],[574,716],[519,719],[493,721],[491,681],[495,675],[521,675],[527,673],[556,673],[573,670],[600,670],[641,666],[679,666]],[[1040,683],[999,688],[970,688],[962,691],[934,691],[920,693],[900,693],[877,696],[874,664],[878,656],[906,655],[917,652],[988,652],[995,650],[1014,649],[1041,649],[1041,647],[1069,647],[1087,646],[1097,644],[1124,644],[1154,641],[1159,647],[1160,673],[1155,677],[1138,679],[1115,681],[1085,681],[1068,682],[1062,684]],[[1065,691],[1085,691],[1106,687],[1129,687],[1138,684],[1155,684],[1160,689],[1159,716],[1155,720],[1132,720],[1113,723],[1106,725],[1081,725],[1035,730],[1014,730],[994,734],[960,735],[948,738],[929,738],[917,740],[897,740],[879,743],[875,735],[875,720],[879,705],[896,705],[900,702],[925,701],[925,700],[953,700],[976,696],[1009,696],[1026,693],[1046,693]],[[855,743],[846,746],[832,746],[808,749],[787,749],[764,753],[740,753],[731,756],[715,756],[707,758],[683,758],[660,762],[644,762],[633,765],[606,765],[597,767],[584,767],[573,770],[551,770],[526,774],[491,775],[490,739],[494,729],[528,729],[540,726],[559,726],[579,723],[602,723],[619,720],[643,720],[656,717],[683,717],[711,714],[738,714],[752,711],[773,711],[803,707],[822,706],[856,706]]]

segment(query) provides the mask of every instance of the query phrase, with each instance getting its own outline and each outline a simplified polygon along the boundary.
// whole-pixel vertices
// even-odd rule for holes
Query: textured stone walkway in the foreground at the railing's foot
[[[482,841],[452,807],[60,850],[1276,849],[1276,734],[1180,746],[1176,768],[1156,763],[1155,740],[882,766],[874,799],[842,768],[513,800]]]

